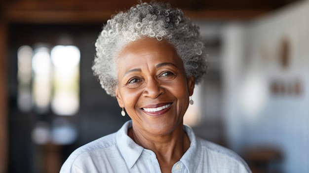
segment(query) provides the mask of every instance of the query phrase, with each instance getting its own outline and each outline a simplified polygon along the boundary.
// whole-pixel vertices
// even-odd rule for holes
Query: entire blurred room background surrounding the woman
[[[253,173],[309,173],[309,0],[169,2],[208,50],[185,123]],[[91,65],[103,24],[136,3],[0,1],[0,173],[58,173],[74,149],[129,120]]]

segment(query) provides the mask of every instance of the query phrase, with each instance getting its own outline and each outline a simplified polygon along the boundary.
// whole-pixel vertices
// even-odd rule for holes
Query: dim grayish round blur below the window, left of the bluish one
[[[46,144],[50,139],[49,126],[46,122],[38,122],[32,132],[32,139],[37,144]]]

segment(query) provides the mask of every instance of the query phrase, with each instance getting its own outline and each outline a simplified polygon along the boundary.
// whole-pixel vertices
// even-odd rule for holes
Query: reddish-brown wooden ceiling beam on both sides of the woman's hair
[[[184,9],[193,20],[250,19],[270,11],[265,7],[214,8],[215,5],[208,6],[206,2],[194,9],[192,3],[200,0],[190,4],[186,0],[157,1],[169,1],[172,6]],[[117,11],[136,3],[137,0],[15,0],[8,5],[6,17],[10,23],[103,23]]]

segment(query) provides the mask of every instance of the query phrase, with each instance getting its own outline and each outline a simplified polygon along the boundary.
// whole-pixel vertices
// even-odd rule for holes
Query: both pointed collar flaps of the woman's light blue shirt
[[[127,121],[116,133],[116,142],[119,146],[128,168],[132,168],[138,158],[141,156],[144,148],[136,144],[127,134],[128,129],[132,127],[132,120]],[[190,139],[190,147],[180,159],[181,162],[188,168],[189,173],[195,173],[195,170],[201,160],[200,143],[196,140],[193,130],[184,125],[184,130]]]

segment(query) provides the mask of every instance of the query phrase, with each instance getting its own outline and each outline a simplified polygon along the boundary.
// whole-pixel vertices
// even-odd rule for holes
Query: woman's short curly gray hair
[[[96,40],[92,66],[102,88],[115,97],[118,86],[117,55],[127,43],[150,37],[166,40],[182,59],[187,77],[198,84],[206,73],[206,51],[198,27],[180,9],[168,3],[140,2],[129,10],[112,16]]]

